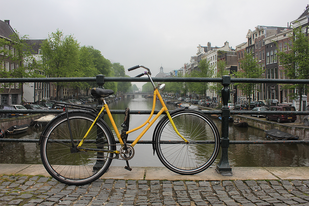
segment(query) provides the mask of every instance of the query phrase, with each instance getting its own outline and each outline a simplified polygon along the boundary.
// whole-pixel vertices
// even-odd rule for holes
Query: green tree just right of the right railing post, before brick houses
[[[240,60],[240,69],[242,71],[235,72],[235,77],[237,78],[261,78],[263,74],[263,69],[257,65],[256,60],[253,58],[252,54],[244,53],[245,56],[243,59]],[[239,89],[249,97],[249,108],[250,108],[250,101],[251,95],[255,91],[255,83],[235,83]]]

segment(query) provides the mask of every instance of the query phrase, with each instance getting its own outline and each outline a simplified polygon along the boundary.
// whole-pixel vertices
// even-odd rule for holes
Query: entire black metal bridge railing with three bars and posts
[[[221,159],[217,165],[217,172],[222,175],[231,175],[231,166],[228,161],[228,148],[230,144],[309,144],[309,140],[284,140],[284,141],[230,141],[228,137],[228,122],[230,115],[237,114],[295,114],[309,115],[309,111],[230,111],[227,106],[231,83],[273,83],[273,84],[309,84],[309,79],[241,79],[231,78],[229,75],[221,78],[152,78],[154,82],[219,82],[222,83],[221,91],[223,106],[221,110],[202,110],[204,114],[220,114],[222,116],[222,131],[221,131]],[[0,78],[1,83],[29,83],[29,82],[96,82],[98,85],[103,85],[105,82],[149,82],[148,78],[135,77],[104,77],[97,75],[96,77],[71,77],[71,78]],[[2,113],[12,113],[12,110],[1,110]],[[22,114],[55,114],[61,113],[62,110],[18,110]],[[150,114],[151,111],[144,110],[130,111],[130,114]],[[157,114],[159,111],[155,111]],[[125,110],[111,110],[112,114],[124,114]],[[37,139],[0,139],[0,142],[38,142]],[[129,141],[128,141],[129,143]],[[139,144],[151,144],[151,141],[139,141]]]

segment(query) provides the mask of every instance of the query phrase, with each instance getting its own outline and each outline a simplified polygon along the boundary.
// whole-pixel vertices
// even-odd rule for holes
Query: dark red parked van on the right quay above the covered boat
[[[296,111],[294,106],[271,106],[268,111]],[[297,116],[295,114],[267,114],[266,120],[277,120],[278,123],[283,121],[295,122]]]

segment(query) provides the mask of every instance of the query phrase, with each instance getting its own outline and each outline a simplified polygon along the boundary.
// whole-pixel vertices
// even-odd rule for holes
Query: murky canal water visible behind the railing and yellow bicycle
[[[110,109],[151,110],[152,98],[143,98],[136,95],[135,98],[125,97],[121,100],[109,103]],[[177,109],[174,105],[167,105],[169,110]],[[156,110],[161,109],[161,104],[156,101]],[[130,129],[142,125],[149,115],[132,114],[130,116]],[[123,114],[113,114],[117,127],[123,122]],[[160,118],[159,118],[160,119]],[[141,140],[152,140],[153,131],[157,122],[146,132]],[[106,122],[112,128],[109,119]],[[221,135],[221,122],[212,119]],[[121,128],[121,127],[120,127]],[[119,128],[119,130],[120,130]],[[31,127],[27,132],[19,135],[6,135],[11,139],[39,139],[43,131],[41,127]],[[113,130],[112,130],[113,131]],[[134,140],[142,130],[129,134],[128,140]],[[114,131],[113,131],[114,132]],[[114,136],[116,137],[115,133]],[[269,140],[264,131],[248,127],[234,127],[229,125],[230,140]],[[163,166],[156,153],[154,155],[151,144],[137,144],[134,147],[135,156],[129,161],[130,166]],[[309,146],[306,144],[230,144],[228,158],[231,166],[236,167],[297,167],[309,166]],[[212,165],[218,164],[221,151]],[[6,164],[41,164],[40,147],[36,143],[0,143],[0,163]],[[125,161],[113,160],[112,166],[125,166]]]

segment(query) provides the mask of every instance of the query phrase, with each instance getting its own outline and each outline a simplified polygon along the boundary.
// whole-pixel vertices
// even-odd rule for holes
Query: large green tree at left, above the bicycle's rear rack
[[[73,35],[66,35],[57,29],[48,35],[41,45],[42,60],[45,75],[49,77],[80,76],[79,44]],[[57,82],[56,100],[59,91],[68,85],[66,82]]]

